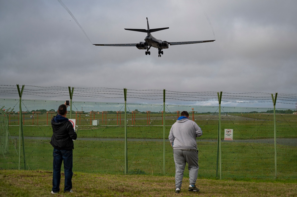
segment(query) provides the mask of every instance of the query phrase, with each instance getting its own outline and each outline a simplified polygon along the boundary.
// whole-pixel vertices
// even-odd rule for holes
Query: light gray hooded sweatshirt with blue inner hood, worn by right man
[[[173,142],[173,149],[196,149],[196,137],[202,135],[200,127],[192,120],[177,120],[170,129],[168,139]]]

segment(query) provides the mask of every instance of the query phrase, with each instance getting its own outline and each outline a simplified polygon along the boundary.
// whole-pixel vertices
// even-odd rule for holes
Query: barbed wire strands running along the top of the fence
[[[21,86],[20,86],[21,88]],[[72,89],[72,87],[70,88]],[[124,98],[124,89],[91,87],[75,87],[74,97],[97,98],[97,99],[122,99]],[[0,97],[18,97],[18,89],[15,85],[0,85]],[[25,86],[23,95],[32,97],[69,97],[69,87],[51,86]],[[275,94],[273,94],[275,96]],[[177,92],[165,91],[166,100],[179,100],[189,102],[209,102],[218,101],[217,92]],[[141,100],[162,100],[163,90],[159,89],[128,89],[127,98]],[[238,103],[265,103],[272,102],[271,93],[265,92],[244,92],[244,93],[222,93],[222,101]],[[297,101],[297,94],[278,94],[277,103],[294,105]]]

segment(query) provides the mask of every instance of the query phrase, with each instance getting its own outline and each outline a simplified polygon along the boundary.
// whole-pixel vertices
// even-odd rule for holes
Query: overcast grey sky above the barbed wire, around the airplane
[[[296,0],[0,0],[0,84],[295,94]],[[146,33],[174,45],[151,55]],[[294,106],[292,106],[294,107]]]

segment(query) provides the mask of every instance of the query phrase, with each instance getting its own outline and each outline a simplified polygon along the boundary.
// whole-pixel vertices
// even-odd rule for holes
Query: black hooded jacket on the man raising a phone
[[[52,118],[53,136],[50,144],[58,150],[74,149],[73,140],[76,140],[77,134],[68,118],[59,114]]]

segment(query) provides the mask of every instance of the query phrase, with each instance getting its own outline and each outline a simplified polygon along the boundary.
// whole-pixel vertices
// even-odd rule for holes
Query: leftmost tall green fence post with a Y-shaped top
[[[20,97],[20,113],[19,113],[19,165],[18,165],[18,169],[20,170],[20,146],[21,146],[21,140],[23,141],[23,157],[24,157],[24,169],[26,167],[26,159],[25,159],[25,146],[24,146],[24,134],[23,134],[23,118],[22,118],[22,95],[23,95],[23,91],[24,91],[24,87],[25,85],[22,86],[22,90],[20,90],[19,85],[17,84],[17,88],[18,88],[18,94]]]

